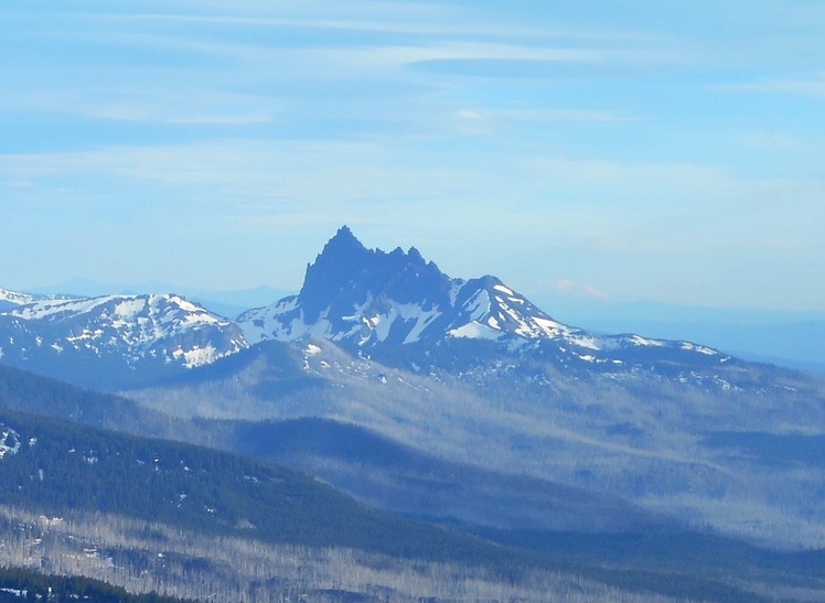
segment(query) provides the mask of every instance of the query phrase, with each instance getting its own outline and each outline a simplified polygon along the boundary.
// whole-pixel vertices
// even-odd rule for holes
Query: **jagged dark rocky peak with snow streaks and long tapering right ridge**
[[[308,266],[303,287],[237,317],[247,342],[330,340],[386,359],[456,341],[489,341],[521,356],[624,372],[636,365],[721,366],[732,358],[688,342],[596,335],[559,323],[495,277],[453,279],[417,249],[365,248],[342,227]],[[420,366],[420,356],[416,364]]]

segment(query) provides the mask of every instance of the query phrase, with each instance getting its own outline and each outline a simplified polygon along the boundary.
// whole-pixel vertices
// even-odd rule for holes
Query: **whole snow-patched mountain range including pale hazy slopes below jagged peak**
[[[171,417],[157,419],[160,435],[172,423],[321,418],[752,541],[825,545],[808,494],[817,466],[778,470],[741,445],[825,432],[821,378],[568,326],[494,277],[450,278],[416,249],[367,249],[346,227],[297,295],[235,321],[173,294],[40,300],[0,312],[0,348],[4,364]],[[231,430],[180,437],[233,448]],[[741,437],[717,438],[731,432]]]

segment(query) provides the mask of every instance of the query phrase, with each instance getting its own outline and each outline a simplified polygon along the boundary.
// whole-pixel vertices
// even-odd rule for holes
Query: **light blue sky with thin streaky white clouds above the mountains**
[[[4,2],[0,287],[450,276],[825,311],[825,3]],[[551,311],[551,309],[548,309]]]

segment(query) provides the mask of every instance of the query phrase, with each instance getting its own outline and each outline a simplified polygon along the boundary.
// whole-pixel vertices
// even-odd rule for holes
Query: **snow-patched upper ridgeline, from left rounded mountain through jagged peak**
[[[297,295],[234,320],[171,293],[86,299],[0,290],[0,362],[106,389],[173,377],[262,341],[307,338],[408,368],[427,368],[432,353],[443,360],[451,346],[613,374],[689,376],[738,363],[688,342],[565,325],[495,277],[450,278],[415,248],[367,249],[345,226],[308,266]]]

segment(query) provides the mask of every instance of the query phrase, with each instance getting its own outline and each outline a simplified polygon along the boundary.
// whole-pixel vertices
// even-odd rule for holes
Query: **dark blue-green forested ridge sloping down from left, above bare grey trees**
[[[0,503],[118,513],[181,527],[403,557],[504,562],[452,530],[375,512],[309,476],[235,454],[0,409],[22,441],[0,460]]]

